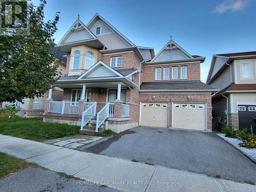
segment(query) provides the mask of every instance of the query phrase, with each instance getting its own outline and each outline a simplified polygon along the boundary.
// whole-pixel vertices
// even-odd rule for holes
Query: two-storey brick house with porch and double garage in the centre
[[[78,16],[56,47],[67,52],[66,74],[55,84],[63,101],[49,93],[44,121],[79,125],[80,133],[92,135],[138,125],[211,131],[217,90],[200,81],[205,57],[172,40],[155,55],[99,14],[87,25]]]

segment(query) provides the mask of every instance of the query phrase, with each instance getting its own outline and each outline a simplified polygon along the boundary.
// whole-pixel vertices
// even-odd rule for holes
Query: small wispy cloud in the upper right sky
[[[249,3],[249,0],[225,0],[221,5],[214,9],[215,13],[224,13],[225,11],[239,11],[245,8]]]

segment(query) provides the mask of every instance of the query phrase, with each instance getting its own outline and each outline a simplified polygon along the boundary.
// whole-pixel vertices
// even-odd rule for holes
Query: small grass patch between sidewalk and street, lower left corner
[[[17,172],[26,167],[36,167],[35,163],[28,163],[22,159],[0,152],[0,178]]]

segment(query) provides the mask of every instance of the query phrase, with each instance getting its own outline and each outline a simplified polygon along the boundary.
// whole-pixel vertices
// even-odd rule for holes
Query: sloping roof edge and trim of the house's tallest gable
[[[135,46],[132,41],[130,41],[128,38],[126,38],[122,33],[120,33],[116,28],[114,28],[109,22],[107,22],[102,16],[100,16],[98,13],[96,13],[93,18],[90,20],[90,22],[87,24],[88,28],[91,28],[98,19],[101,19],[104,24],[106,24],[110,29],[112,29],[121,39],[126,41],[130,46]]]

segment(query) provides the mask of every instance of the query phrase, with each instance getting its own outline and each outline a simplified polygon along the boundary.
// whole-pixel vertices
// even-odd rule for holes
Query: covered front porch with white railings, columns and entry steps
[[[80,133],[95,135],[105,129],[130,129],[130,88],[122,83],[62,84],[63,101],[45,100],[44,121],[80,126]],[[127,94],[128,93],[128,94]],[[124,124],[125,123],[125,124]],[[135,125],[136,126],[136,125]]]

